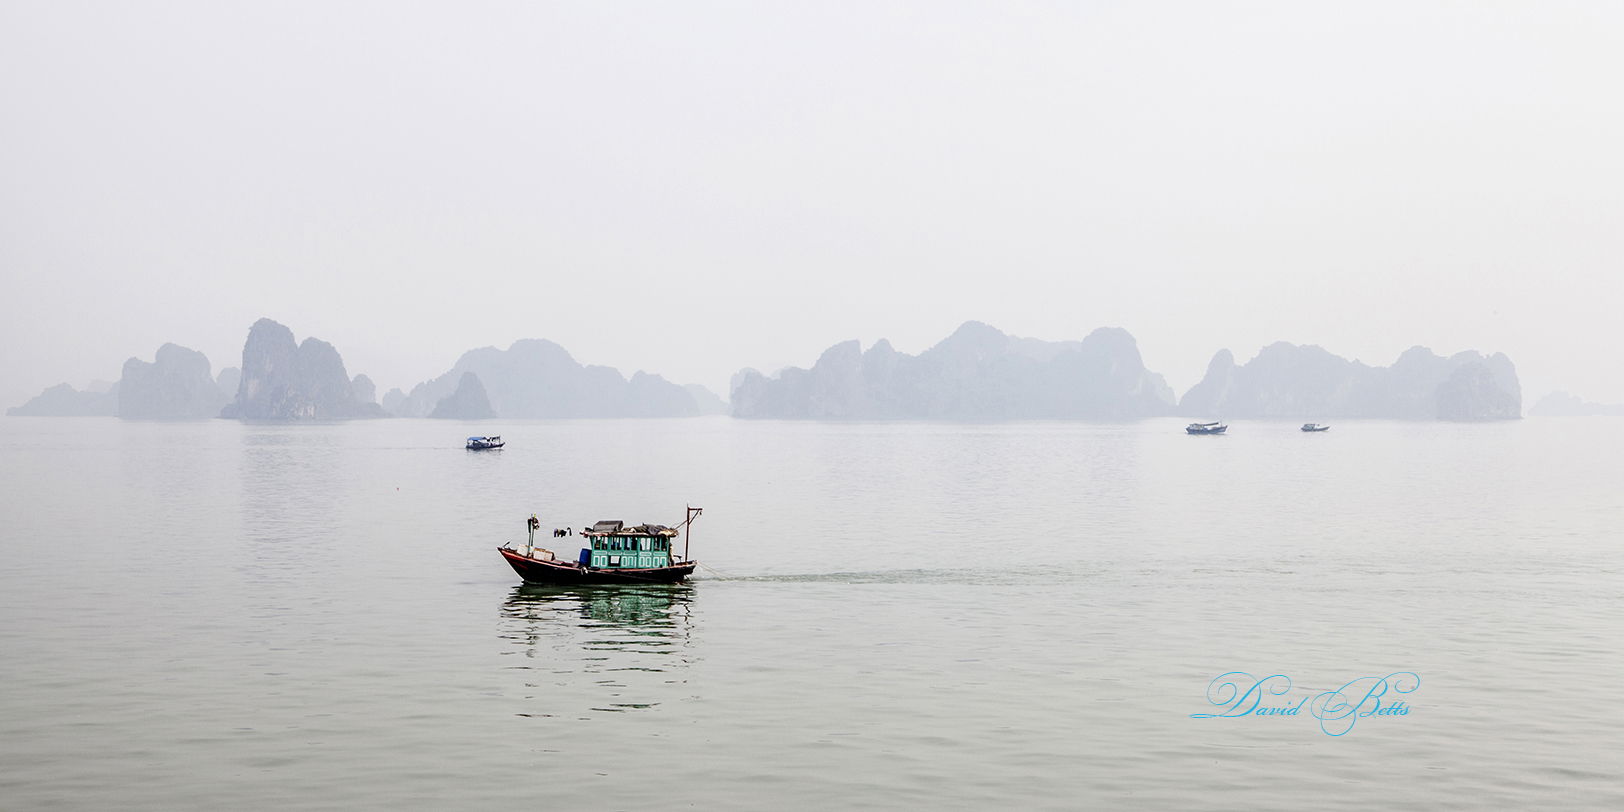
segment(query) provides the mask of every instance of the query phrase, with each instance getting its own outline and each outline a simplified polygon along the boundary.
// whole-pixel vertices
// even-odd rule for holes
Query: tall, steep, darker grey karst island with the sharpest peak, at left
[[[382,417],[383,409],[356,395],[344,359],[317,338],[294,343],[292,330],[261,318],[242,346],[242,382],[221,417],[255,421],[331,421]]]

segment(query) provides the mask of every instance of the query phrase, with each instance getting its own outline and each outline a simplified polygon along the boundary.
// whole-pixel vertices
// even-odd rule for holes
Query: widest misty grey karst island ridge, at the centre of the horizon
[[[731,403],[736,417],[1122,421],[1169,414],[1174,398],[1125,330],[1038,341],[966,322],[918,356],[844,341],[812,369],[742,370]]]

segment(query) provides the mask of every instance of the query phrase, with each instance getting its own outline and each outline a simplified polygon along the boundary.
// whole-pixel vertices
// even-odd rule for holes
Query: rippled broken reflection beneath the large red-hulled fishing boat
[[[520,716],[654,708],[685,695],[693,586],[515,586],[503,656],[523,672]]]

